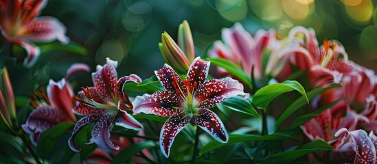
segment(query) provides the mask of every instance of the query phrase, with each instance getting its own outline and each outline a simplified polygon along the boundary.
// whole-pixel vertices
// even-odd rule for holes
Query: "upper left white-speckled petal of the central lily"
[[[155,71],[155,74],[157,78],[159,79],[159,81],[161,82],[161,85],[163,86],[163,88],[165,88],[165,90],[176,93],[176,87],[181,87],[182,89],[181,92],[183,92],[182,94],[187,95],[187,90],[185,89],[186,88],[185,83],[183,83],[183,80],[181,79],[181,77],[179,77],[179,75],[176,74],[173,68],[170,67],[168,64],[165,64],[163,68]],[[176,78],[176,83],[174,83],[174,85],[176,86],[172,84],[172,82],[174,82],[173,77]]]

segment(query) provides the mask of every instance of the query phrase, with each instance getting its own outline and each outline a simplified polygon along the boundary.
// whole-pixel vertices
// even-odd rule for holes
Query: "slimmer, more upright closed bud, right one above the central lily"
[[[187,23],[187,20],[183,20],[183,23],[178,27],[178,45],[188,60],[192,62],[195,58],[195,48],[190,25]]]

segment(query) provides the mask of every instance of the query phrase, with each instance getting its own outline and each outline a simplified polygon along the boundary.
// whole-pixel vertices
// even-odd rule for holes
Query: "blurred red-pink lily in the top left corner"
[[[27,57],[23,64],[32,66],[38,59],[40,49],[32,42],[69,42],[65,26],[52,16],[37,17],[47,1],[0,1],[0,31],[8,42],[19,44]]]

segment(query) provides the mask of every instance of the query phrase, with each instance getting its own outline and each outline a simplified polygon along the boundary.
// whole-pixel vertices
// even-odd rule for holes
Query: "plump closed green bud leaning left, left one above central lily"
[[[159,43],[159,49],[165,63],[172,66],[179,73],[187,72],[191,63],[178,44],[166,32],[161,34],[161,40],[162,43]]]

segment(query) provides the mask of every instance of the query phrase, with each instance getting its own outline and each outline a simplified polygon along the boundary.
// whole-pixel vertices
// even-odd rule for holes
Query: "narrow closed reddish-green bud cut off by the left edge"
[[[3,122],[12,129],[12,121],[16,118],[16,107],[14,106],[12,84],[5,67],[0,69],[0,115]]]

